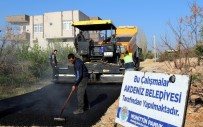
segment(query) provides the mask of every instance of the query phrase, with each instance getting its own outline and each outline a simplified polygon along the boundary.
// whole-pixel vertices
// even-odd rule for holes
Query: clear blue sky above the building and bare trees
[[[194,0],[2,0],[0,29],[5,17],[46,12],[81,10],[88,16],[111,19],[116,26],[133,25],[145,32],[148,42],[167,34],[167,22],[176,24],[180,17],[190,15]],[[203,0],[196,0],[203,7]]]

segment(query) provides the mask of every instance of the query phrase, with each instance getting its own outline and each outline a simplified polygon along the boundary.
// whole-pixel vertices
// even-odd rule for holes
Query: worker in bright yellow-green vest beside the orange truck
[[[124,54],[124,67],[125,71],[134,71],[134,62],[132,55],[129,54],[128,51],[125,52]]]

